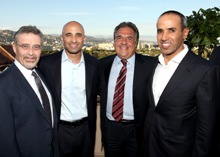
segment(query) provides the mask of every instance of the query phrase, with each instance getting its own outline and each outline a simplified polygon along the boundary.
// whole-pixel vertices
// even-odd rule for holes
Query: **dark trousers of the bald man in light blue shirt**
[[[78,126],[59,125],[60,157],[93,157],[88,122]]]

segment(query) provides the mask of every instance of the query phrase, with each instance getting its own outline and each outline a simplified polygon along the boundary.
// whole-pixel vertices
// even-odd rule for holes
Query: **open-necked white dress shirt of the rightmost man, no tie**
[[[178,65],[185,57],[188,52],[187,45],[184,45],[184,49],[178,53],[175,57],[173,57],[167,65],[164,62],[164,57],[162,54],[159,55],[159,63],[155,69],[154,77],[153,77],[153,95],[154,102],[157,105],[160,96],[169,82],[170,78],[173,76],[175,70]]]

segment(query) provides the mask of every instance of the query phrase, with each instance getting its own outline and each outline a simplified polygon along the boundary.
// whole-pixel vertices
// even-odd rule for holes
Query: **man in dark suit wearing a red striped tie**
[[[106,157],[140,157],[143,122],[148,107],[148,76],[153,58],[136,53],[138,40],[139,32],[133,23],[120,23],[114,30],[116,55],[101,60],[101,131]],[[120,72],[124,67],[123,61],[127,63],[125,82],[121,85],[124,86],[121,92],[124,96],[116,100],[115,93],[121,90],[115,88],[120,84],[116,80],[124,73]]]

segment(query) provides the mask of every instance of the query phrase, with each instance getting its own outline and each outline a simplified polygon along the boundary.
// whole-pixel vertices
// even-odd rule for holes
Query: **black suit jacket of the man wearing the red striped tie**
[[[147,86],[149,76],[152,71],[153,57],[135,54],[134,80],[133,80],[133,107],[134,120],[138,144],[143,139],[143,123],[148,108]],[[101,100],[101,130],[102,142],[105,143],[105,121],[108,94],[109,75],[113,60],[116,55],[108,56],[101,60],[101,81],[100,81],[100,100]]]

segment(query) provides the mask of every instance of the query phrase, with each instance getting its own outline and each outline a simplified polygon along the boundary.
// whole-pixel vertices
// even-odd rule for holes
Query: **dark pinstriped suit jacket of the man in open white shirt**
[[[151,79],[149,99],[143,145],[146,157],[219,156],[220,72],[217,66],[189,51],[156,106]]]

